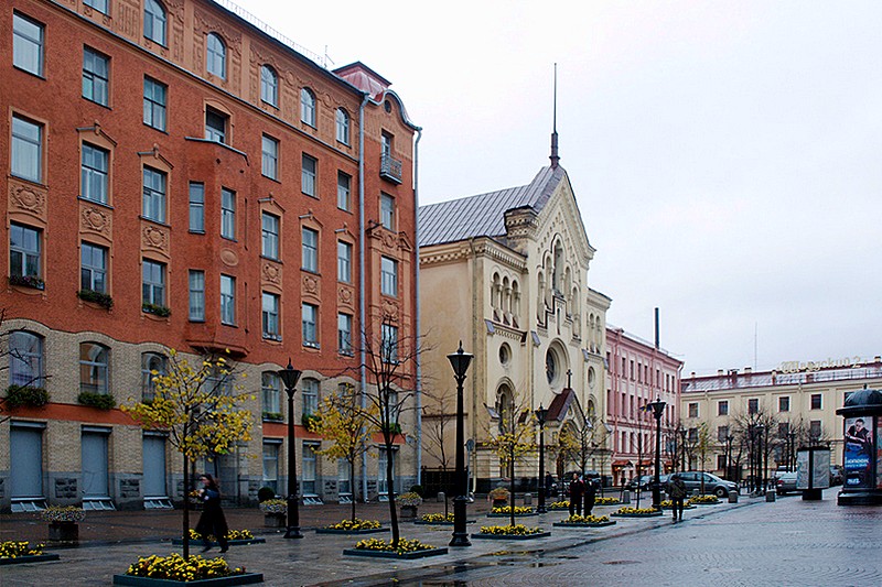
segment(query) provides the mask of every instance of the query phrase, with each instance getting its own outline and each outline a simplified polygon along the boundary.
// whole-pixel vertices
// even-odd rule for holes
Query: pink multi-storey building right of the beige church
[[[682,361],[626,333],[606,328],[606,424],[615,483],[654,472],[656,423],[646,405],[667,403],[662,416],[663,472],[673,466]]]

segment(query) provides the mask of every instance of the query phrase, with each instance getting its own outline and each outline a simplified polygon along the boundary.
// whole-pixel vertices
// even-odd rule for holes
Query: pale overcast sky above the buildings
[[[611,325],[699,374],[882,354],[882,2],[238,0],[392,83],[421,204],[561,165]]]

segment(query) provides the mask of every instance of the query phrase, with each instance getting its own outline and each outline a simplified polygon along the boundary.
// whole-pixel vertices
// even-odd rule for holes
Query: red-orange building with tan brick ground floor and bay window
[[[354,487],[299,414],[361,383],[363,326],[376,336],[383,314],[389,336],[416,331],[419,128],[389,81],[361,63],[329,70],[208,0],[11,0],[0,31],[0,307],[15,354],[0,383],[50,396],[3,413],[0,508],[180,498],[161,436],[82,403],[139,398],[170,348],[229,349],[249,376],[255,438],[208,465],[228,497],[287,488],[273,371],[289,357],[302,493],[375,494],[377,460]],[[405,486],[416,456],[399,453]]]

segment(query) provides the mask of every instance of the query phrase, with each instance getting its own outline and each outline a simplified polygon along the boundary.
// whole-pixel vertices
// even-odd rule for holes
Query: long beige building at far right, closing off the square
[[[743,478],[749,453],[745,425],[759,423],[768,438],[770,471],[789,466],[794,450],[808,443],[829,444],[830,463],[841,465],[843,422],[836,410],[842,407],[849,393],[864,385],[882,387],[880,357],[787,362],[773,371],[745,368],[684,377],[680,413],[687,432],[687,458],[691,467],[700,466],[696,444],[698,430],[704,424],[709,432],[706,470],[724,475],[729,464],[729,476],[740,474]]]

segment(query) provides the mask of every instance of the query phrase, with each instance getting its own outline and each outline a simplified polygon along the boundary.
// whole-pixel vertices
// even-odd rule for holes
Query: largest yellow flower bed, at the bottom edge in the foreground
[[[190,558],[184,558],[178,553],[169,556],[142,556],[129,566],[125,575],[114,575],[114,585],[162,585],[159,581],[179,581],[187,585],[247,585],[262,580],[263,575],[246,573],[245,567],[233,568],[220,557],[203,558],[192,555]]]

